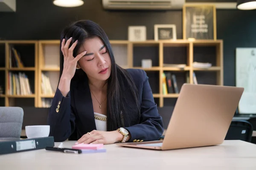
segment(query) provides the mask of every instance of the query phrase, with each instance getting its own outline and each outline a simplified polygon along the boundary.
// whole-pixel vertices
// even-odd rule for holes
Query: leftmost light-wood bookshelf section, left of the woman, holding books
[[[0,41],[0,106],[37,104],[37,59],[36,40]]]

